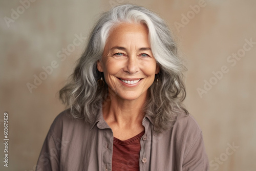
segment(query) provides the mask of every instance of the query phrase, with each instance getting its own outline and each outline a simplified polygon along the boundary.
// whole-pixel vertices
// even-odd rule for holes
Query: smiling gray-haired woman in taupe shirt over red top
[[[139,6],[104,13],[51,125],[37,170],[207,170],[182,107],[184,67],[164,21]]]

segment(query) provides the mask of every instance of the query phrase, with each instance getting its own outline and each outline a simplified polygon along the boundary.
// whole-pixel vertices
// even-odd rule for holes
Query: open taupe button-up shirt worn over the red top
[[[140,140],[140,170],[209,169],[202,131],[196,120],[180,113],[172,130],[153,134],[151,119],[142,121],[145,134]],[[73,119],[68,112],[60,113],[53,121],[42,146],[37,171],[42,170],[112,170],[113,133],[104,121],[102,110],[93,124]],[[134,161],[123,163],[125,170]],[[122,170],[120,170],[122,171]]]

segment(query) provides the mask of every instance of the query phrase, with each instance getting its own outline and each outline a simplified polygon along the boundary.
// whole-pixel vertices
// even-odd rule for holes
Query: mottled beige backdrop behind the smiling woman
[[[256,41],[256,1],[205,0],[205,7],[195,14],[189,6],[200,1],[129,2],[157,12],[178,36],[188,68],[185,104],[203,130],[211,170],[252,171],[256,168],[256,45],[234,66],[227,59],[243,52],[245,39]],[[57,91],[72,73],[84,44],[63,61],[58,51],[73,44],[75,34],[88,35],[99,13],[125,2],[37,0],[23,12],[19,1],[0,1],[2,140],[4,112],[9,114],[9,167],[3,166],[1,143],[0,170],[34,170],[49,127],[64,109]],[[19,17],[8,27],[4,17],[11,18],[17,8]],[[177,29],[175,22],[182,24],[182,14],[190,15],[189,23],[183,20],[183,27]],[[30,93],[26,83],[33,83],[33,75],[39,76],[53,60],[58,67]],[[228,72],[200,98],[197,89],[203,89],[204,80],[214,81],[212,72],[222,66]],[[228,143],[239,147],[232,152]]]

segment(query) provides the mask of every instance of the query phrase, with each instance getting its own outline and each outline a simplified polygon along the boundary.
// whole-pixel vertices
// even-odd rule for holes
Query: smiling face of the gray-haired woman
[[[146,26],[123,23],[112,30],[97,69],[117,98],[145,100],[159,72]]]

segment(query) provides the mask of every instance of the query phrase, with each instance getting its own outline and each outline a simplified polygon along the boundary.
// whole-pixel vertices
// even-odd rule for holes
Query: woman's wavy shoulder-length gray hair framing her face
[[[164,20],[144,7],[120,5],[101,15],[69,83],[59,92],[60,99],[67,104],[73,117],[88,122],[94,121],[101,103],[104,105],[111,100],[108,99],[108,85],[98,87],[97,80],[103,75],[97,70],[97,61],[102,57],[110,31],[120,23],[142,23],[148,28],[148,39],[160,72],[148,89],[144,112],[151,118],[156,132],[168,130],[176,121],[177,111],[188,114],[182,105],[186,96],[185,67]]]

